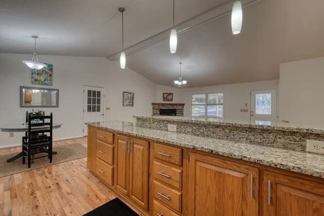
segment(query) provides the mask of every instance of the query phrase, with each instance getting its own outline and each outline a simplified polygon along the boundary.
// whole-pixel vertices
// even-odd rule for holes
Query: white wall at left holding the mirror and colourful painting
[[[31,70],[21,63],[31,55],[0,54],[0,124],[23,123],[25,112],[31,108],[19,107],[19,86],[31,84]],[[55,129],[54,139],[82,136],[83,132],[83,86],[92,85],[105,88],[105,120],[132,121],[133,115],[151,115],[151,103],[155,100],[156,84],[130,70],[119,69],[117,62],[106,58],[39,56],[53,68],[53,86],[59,89],[59,107],[42,108],[53,112],[54,121],[63,126]],[[134,107],[122,106],[122,92],[134,92]],[[0,132],[0,147],[21,143],[23,133]]]

